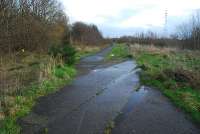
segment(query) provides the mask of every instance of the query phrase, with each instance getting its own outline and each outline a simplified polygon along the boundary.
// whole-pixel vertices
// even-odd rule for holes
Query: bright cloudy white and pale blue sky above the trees
[[[163,32],[165,10],[168,32],[196,9],[200,0],[61,0],[70,22],[96,24],[106,36],[131,35],[136,31]]]

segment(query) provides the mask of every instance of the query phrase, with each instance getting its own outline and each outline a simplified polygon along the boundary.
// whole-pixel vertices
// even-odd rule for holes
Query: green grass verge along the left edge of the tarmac
[[[0,95],[0,116],[4,116],[0,121],[0,134],[19,134],[17,119],[27,115],[39,97],[57,91],[72,80],[76,74],[74,67],[57,64],[57,61],[50,58],[48,64],[40,65],[43,68],[39,69],[40,74],[45,75],[40,82],[32,82],[16,92]]]

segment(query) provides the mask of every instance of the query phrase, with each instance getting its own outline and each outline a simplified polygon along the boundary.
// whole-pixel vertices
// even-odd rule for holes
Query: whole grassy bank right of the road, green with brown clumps
[[[133,45],[141,82],[163,92],[200,123],[200,52]]]

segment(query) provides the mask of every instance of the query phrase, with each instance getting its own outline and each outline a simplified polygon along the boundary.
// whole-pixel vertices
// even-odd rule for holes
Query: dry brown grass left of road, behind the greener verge
[[[27,86],[50,78],[57,65],[63,65],[60,57],[36,53],[12,54],[0,57],[0,120],[15,114],[19,108],[13,98]],[[9,108],[9,109],[8,109]]]

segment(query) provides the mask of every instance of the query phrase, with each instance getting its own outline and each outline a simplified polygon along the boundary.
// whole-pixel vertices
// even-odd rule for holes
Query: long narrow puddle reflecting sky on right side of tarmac
[[[116,126],[127,117],[128,113],[134,110],[135,106],[138,105],[145,98],[147,93],[148,90],[144,86],[142,86],[139,90],[133,92],[127,104],[124,106],[119,115],[114,119]]]

